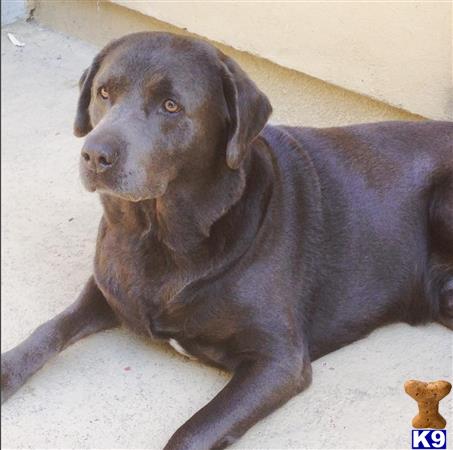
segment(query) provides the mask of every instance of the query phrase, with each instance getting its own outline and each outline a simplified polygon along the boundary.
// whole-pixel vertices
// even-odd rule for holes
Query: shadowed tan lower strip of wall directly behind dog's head
[[[96,1],[35,1],[35,19],[50,28],[80,37],[101,47],[135,31],[188,34],[172,25],[112,3]],[[334,126],[379,120],[418,120],[419,116],[333,86],[246,52],[214,43],[235,58],[274,107],[271,120],[306,126]],[[90,61],[86,61],[88,65]],[[80,72],[84,67],[80,68]]]

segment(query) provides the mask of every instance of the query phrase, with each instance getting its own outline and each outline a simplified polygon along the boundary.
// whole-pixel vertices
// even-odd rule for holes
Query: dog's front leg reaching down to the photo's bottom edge
[[[225,388],[176,431],[165,450],[225,448],[306,388],[310,363],[300,356],[280,358],[242,363]]]

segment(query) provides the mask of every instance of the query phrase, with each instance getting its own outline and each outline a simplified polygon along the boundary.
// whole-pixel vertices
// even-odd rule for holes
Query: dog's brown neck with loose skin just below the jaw
[[[194,183],[186,176],[170,183],[166,193],[153,200],[134,203],[103,194],[104,217],[111,226],[128,227],[141,239],[159,241],[177,257],[209,256],[224,245],[221,236],[224,232],[221,229],[213,232],[214,225],[225,221],[231,229],[241,219],[232,209],[250,195],[245,194],[245,187],[251,177],[256,178],[252,172],[257,168],[252,166],[257,165],[253,162],[257,158],[250,155],[237,170],[218,164],[209,174],[199,177],[199,182]],[[258,190],[265,190],[264,184]],[[229,217],[232,215],[235,217]]]

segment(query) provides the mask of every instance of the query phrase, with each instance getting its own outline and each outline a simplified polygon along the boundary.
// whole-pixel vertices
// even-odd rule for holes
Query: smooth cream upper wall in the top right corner
[[[408,111],[453,119],[451,1],[112,1]]]

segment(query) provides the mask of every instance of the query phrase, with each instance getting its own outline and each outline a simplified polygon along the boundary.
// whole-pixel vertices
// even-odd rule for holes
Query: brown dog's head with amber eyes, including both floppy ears
[[[86,136],[83,183],[140,201],[214,164],[238,169],[270,113],[264,94],[211,45],[168,33],[125,36],[80,80],[74,133]]]

